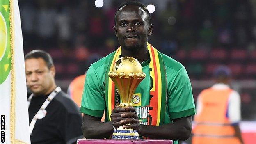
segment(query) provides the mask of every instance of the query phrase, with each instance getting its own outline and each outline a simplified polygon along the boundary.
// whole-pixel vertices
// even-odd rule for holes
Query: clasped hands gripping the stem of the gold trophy
[[[119,126],[123,126],[123,128],[133,128],[138,132],[140,130],[139,118],[134,107],[122,108],[119,107],[119,103],[117,103],[110,117],[116,129],[119,128]]]

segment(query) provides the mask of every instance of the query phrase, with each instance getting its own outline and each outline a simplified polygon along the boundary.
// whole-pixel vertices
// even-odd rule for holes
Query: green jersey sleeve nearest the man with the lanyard
[[[86,73],[80,112],[94,117],[102,117],[105,110],[104,85],[93,66]]]

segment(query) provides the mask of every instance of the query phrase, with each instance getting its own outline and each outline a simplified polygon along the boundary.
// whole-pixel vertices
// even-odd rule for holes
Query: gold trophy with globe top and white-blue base
[[[134,91],[146,77],[146,74],[142,72],[142,66],[139,61],[133,57],[121,57],[115,62],[113,70],[108,73],[108,76],[119,91],[120,107],[133,106],[131,99]],[[117,130],[114,130],[112,139],[139,139],[139,133],[137,130],[120,126]]]

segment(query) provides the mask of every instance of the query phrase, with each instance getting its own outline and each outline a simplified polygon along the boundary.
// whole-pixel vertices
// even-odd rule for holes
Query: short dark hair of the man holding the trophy
[[[115,23],[115,25],[117,25],[117,22],[116,22],[116,19],[117,19],[117,12],[118,12],[122,7],[127,6],[127,5],[133,5],[133,6],[137,6],[137,7],[142,8],[142,9],[146,12],[146,14],[147,14],[148,23],[149,23],[149,24],[151,23],[151,15],[150,15],[150,13],[149,13],[149,10],[146,8],[146,6],[143,5],[143,4],[140,3],[140,2],[128,0],[128,1],[126,1],[126,2],[124,2],[124,3],[122,3],[122,4],[119,6],[119,8],[117,9],[117,11],[116,11],[116,13],[115,13],[115,18],[114,18],[114,23]]]

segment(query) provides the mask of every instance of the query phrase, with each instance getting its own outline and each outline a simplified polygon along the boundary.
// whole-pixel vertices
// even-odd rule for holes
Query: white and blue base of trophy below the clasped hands
[[[120,126],[114,133],[111,139],[139,139],[139,133],[137,130],[126,129]]]

